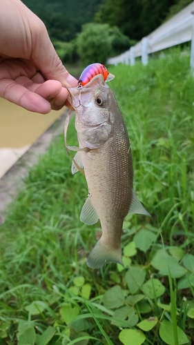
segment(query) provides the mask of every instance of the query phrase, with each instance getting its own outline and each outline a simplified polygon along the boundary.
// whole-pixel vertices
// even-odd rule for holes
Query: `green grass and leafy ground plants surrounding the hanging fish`
[[[79,220],[84,176],[61,135],[0,227],[0,344],[194,342],[194,79],[186,51],[110,66],[132,142],[134,188],[151,217],[124,221],[125,268],[86,266],[99,224]],[[68,145],[76,145],[73,119]]]

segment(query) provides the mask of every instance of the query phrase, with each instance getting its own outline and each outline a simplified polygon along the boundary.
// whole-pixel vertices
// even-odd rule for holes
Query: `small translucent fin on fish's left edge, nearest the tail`
[[[99,217],[89,195],[88,199],[86,199],[85,201],[84,206],[82,207],[80,220],[85,224],[92,225],[97,223],[98,219]]]

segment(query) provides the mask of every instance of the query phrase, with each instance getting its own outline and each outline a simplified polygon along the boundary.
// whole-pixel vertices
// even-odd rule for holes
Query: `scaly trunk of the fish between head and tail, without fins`
[[[133,166],[129,141],[117,144],[110,138],[101,148],[81,152],[88,191],[99,216],[101,242],[120,248],[122,225],[130,208]]]

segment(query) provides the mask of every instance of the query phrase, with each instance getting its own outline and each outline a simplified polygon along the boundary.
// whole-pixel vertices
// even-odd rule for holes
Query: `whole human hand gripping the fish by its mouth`
[[[0,97],[32,112],[69,106],[77,86],[61,63],[41,19],[20,0],[0,2]]]

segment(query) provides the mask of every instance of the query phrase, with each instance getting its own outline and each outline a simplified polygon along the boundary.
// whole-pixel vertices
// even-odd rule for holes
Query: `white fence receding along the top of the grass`
[[[148,54],[188,41],[192,41],[191,68],[194,68],[194,1],[122,55],[108,59],[107,63],[134,65],[135,57],[142,57],[142,63],[146,65]]]

